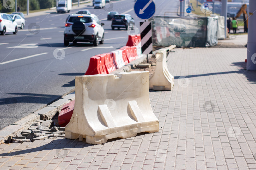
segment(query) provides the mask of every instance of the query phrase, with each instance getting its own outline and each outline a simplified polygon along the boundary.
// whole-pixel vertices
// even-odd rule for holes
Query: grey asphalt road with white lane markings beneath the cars
[[[155,15],[164,15],[165,11],[178,9],[178,0],[155,0],[157,8]],[[124,0],[113,2],[113,11],[128,13],[139,22],[133,11],[134,1]],[[94,47],[90,43],[63,44],[64,24],[68,15],[57,14],[26,19],[24,30],[18,30],[17,35],[8,33],[0,36],[0,129],[20,120],[46,106],[52,101],[68,93],[75,86],[75,76],[84,75],[90,57],[107,53],[126,45],[128,33],[126,30],[111,30],[111,21],[107,21],[110,6],[104,9],[94,9],[87,4],[81,9],[89,9],[105,23],[105,42]],[[32,29],[31,29],[32,28]],[[36,30],[35,30],[36,28]],[[57,59],[56,49],[62,48],[64,57]]]

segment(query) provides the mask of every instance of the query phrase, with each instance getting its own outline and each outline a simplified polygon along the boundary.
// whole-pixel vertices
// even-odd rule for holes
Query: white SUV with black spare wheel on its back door
[[[69,42],[76,44],[79,42],[90,42],[94,46],[104,42],[104,23],[101,23],[98,17],[94,14],[70,15],[64,30],[64,45],[69,45]]]

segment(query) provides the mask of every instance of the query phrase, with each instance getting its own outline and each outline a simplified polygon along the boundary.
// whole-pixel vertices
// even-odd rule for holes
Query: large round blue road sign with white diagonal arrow
[[[134,11],[140,19],[149,19],[155,14],[155,3],[153,0],[137,0],[134,3]]]

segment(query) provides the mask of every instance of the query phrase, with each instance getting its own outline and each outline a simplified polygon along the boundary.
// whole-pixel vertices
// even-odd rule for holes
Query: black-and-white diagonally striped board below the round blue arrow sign
[[[141,54],[153,54],[152,27],[151,22],[140,22]]]

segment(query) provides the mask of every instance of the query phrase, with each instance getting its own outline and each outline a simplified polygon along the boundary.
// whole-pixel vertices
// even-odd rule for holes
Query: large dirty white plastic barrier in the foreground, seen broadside
[[[102,144],[159,131],[149,101],[148,71],[76,76],[75,84],[75,107],[66,138]]]

